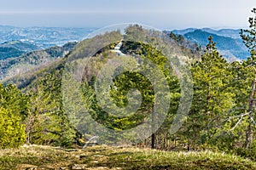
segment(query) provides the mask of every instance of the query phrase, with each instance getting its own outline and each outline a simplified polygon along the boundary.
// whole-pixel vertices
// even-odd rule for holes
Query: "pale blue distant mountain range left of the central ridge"
[[[19,40],[40,48],[49,48],[55,45],[62,46],[67,42],[81,41],[94,30],[96,28],[0,26],[0,43]]]

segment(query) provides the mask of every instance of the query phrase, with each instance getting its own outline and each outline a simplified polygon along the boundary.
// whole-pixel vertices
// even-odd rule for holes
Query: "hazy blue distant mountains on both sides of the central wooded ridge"
[[[0,44],[0,59],[6,59],[18,57],[20,54],[33,50],[81,41],[96,28],[0,26],[0,30],[0,43],[2,43]],[[207,45],[207,38],[212,36],[213,41],[217,42],[220,53],[230,60],[247,59],[249,56],[247,48],[241,41],[239,29],[188,28],[172,32],[183,35],[189,41],[196,42],[202,47]]]

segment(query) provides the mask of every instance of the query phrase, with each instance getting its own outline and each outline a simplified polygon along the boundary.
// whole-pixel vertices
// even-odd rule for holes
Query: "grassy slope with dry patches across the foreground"
[[[108,146],[89,147],[85,150],[57,150],[49,146],[23,146],[20,149],[0,150],[0,169],[110,168],[256,169],[256,163],[221,153],[165,152]]]

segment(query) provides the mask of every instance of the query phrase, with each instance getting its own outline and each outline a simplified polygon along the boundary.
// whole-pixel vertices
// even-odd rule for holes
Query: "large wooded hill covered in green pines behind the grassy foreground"
[[[143,29],[142,26],[128,26],[124,32],[109,31],[85,39],[75,45],[72,52],[63,59],[57,59],[31,74],[17,75],[5,81],[5,85],[12,83],[18,88],[14,85],[0,87],[3,94],[0,111],[4,120],[7,120],[4,122],[8,122],[8,115],[12,115],[15,124],[14,127],[10,127],[8,123],[3,124],[2,127],[8,128],[6,132],[13,138],[8,136],[3,139],[0,147],[17,147],[27,143],[80,148],[90,137],[98,135],[102,144],[117,145],[129,141],[129,144],[159,150],[213,150],[256,160],[252,92],[256,57],[253,44],[248,42],[247,45],[254,47],[251,57],[242,62],[228,62],[218,52],[212,37],[207,37],[206,48],[201,50],[182,37],[172,34],[168,37],[162,32]],[[134,41],[138,37],[143,41]],[[161,47],[157,42],[170,47]],[[108,86],[111,99],[103,104],[113,101],[114,105],[108,105],[112,111],[115,111],[113,108],[116,106],[123,108],[134,101],[132,97],[139,94],[134,92],[127,97],[130,89],[136,88],[140,91],[142,102],[139,109],[128,116],[125,111],[119,113],[125,116],[115,116],[113,112],[104,110],[95,91],[102,67],[107,68],[104,71],[108,73],[115,66],[109,65],[108,61],[120,57],[116,53],[116,46],[120,43],[119,50],[134,59],[129,60],[132,65],[148,69],[148,65],[144,64],[149,60],[149,64],[156,65],[158,70],[150,72],[148,69],[147,73],[157,77],[156,73],[159,71],[164,77],[158,83],[152,83],[150,78],[137,70],[125,71],[125,67],[114,70],[114,73],[123,72],[112,79],[113,84]],[[165,56],[165,50],[174,53],[172,58]],[[125,56],[121,57],[126,59]],[[191,78],[184,72],[175,70],[172,64],[188,69]],[[73,73],[75,77],[66,73]],[[182,81],[193,86],[182,88]],[[160,96],[164,96],[164,101],[169,100],[170,103],[167,103],[166,119],[159,128],[154,133],[148,128],[148,132],[143,133],[153,135],[147,135],[145,139],[142,139],[143,136],[136,138],[132,134],[123,133],[142,125],[148,116],[152,116],[154,100],[158,97],[154,94],[154,86],[158,85],[161,89],[164,82],[168,88]],[[100,88],[103,92],[107,89]],[[184,123],[177,133],[172,133],[172,123],[178,117],[180,101],[187,89],[193,92],[191,106],[186,105],[189,109],[188,116],[183,117]],[[93,121],[84,116],[84,108],[88,109]],[[73,120],[73,117],[78,120]],[[161,117],[158,116],[155,120],[159,121]],[[95,126],[92,122],[113,131],[106,133],[101,126]],[[14,138],[14,133],[10,130],[13,128],[17,138]]]

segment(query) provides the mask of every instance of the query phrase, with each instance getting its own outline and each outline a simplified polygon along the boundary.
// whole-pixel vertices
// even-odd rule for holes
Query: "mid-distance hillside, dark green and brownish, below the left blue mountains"
[[[0,59],[0,80],[11,77],[29,77],[34,71],[51,65],[55,60],[70,53],[77,42],[68,42],[62,47],[55,46],[47,49],[21,54],[16,58]]]

